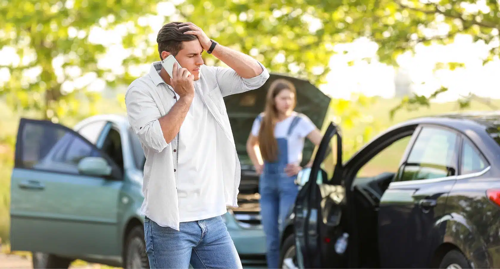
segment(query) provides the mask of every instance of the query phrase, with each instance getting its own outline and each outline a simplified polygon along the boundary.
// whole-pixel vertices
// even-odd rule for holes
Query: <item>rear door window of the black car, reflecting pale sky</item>
[[[456,175],[457,138],[452,131],[424,126],[401,167],[397,181]]]

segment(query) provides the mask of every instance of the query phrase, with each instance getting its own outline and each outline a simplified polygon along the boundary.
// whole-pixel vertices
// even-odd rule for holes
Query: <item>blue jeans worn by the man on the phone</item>
[[[149,267],[242,268],[222,217],[182,222],[176,231],[144,218]]]

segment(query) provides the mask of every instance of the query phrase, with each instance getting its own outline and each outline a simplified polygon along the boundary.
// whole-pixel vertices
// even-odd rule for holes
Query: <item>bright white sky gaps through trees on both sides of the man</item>
[[[153,32],[157,32],[164,23],[165,16],[170,16],[170,20],[175,21],[179,18],[174,14],[174,2],[161,2],[157,6],[158,14],[150,15],[147,18],[142,18],[138,21],[139,24],[149,24]],[[104,26],[108,21],[112,21],[113,17],[108,16],[99,20],[99,24]],[[310,28],[315,28],[310,25]],[[116,74],[122,73],[123,67],[121,61],[130,53],[140,53],[136,51],[128,51],[121,46],[121,37],[127,33],[132,24],[120,25],[114,30],[105,31],[98,25],[93,27],[88,35],[91,42],[101,43],[108,47],[107,53],[98,61],[98,66],[101,68],[111,68]],[[437,29],[441,31],[441,29]],[[77,29],[69,28],[70,36],[83,35]],[[155,40],[155,34],[148,36],[150,40]],[[223,40],[218,40],[223,44]],[[498,45],[496,42],[495,45]],[[437,101],[456,100],[460,95],[467,95],[470,92],[479,96],[500,98],[500,90],[498,90],[498,79],[494,74],[500,74],[500,60],[495,59],[482,65],[482,59],[487,56],[490,47],[481,42],[472,42],[472,38],[467,35],[459,35],[455,38],[454,43],[450,45],[431,45],[417,46],[415,54],[405,53],[397,58],[400,65],[399,71],[405,73],[411,80],[411,90],[417,94],[429,95],[439,88],[440,85],[448,87],[448,91],[438,96]],[[148,48],[149,49],[149,48]],[[156,50],[156,47],[150,48]],[[395,93],[394,77],[395,69],[392,66],[382,64],[376,61],[377,44],[370,42],[367,39],[358,39],[352,43],[337,44],[335,50],[338,52],[347,51],[347,53],[334,54],[329,62],[331,68],[327,74],[326,83],[320,85],[319,88],[326,94],[334,98],[348,99],[353,93],[362,93],[367,96],[379,95],[382,97],[393,97]],[[371,63],[362,61],[362,58],[372,58]],[[0,65],[27,63],[32,57],[24,57],[20,59],[15,54],[15,50],[11,47],[4,47],[0,50]],[[352,66],[348,65],[349,61],[354,61]],[[464,68],[457,68],[453,71],[438,70],[433,71],[437,62],[462,62]],[[61,58],[55,58],[53,61],[56,74],[62,81],[63,70],[61,66]],[[150,63],[144,63],[137,66],[132,71],[132,75],[140,76],[146,73]],[[95,74],[86,74],[81,76],[79,68],[67,70],[74,81],[64,81],[62,88],[65,91],[71,91],[75,88],[80,88],[91,81],[90,88],[93,90],[101,90],[105,88],[105,82],[96,77]],[[39,74],[38,68],[32,68],[25,72],[27,80],[32,80]],[[81,76],[81,77],[80,77]],[[0,68],[0,86],[2,81],[8,80],[10,77],[6,68]]]

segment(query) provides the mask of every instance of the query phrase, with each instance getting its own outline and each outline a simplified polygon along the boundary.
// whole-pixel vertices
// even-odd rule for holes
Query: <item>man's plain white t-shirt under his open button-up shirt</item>
[[[179,222],[213,218],[227,211],[222,174],[217,169],[220,160],[213,158],[217,156],[217,122],[201,98],[196,90],[179,131],[176,182]]]

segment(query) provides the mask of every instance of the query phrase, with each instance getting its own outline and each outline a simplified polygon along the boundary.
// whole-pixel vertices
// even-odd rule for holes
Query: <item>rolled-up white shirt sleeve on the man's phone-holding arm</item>
[[[168,146],[158,119],[159,109],[151,95],[139,87],[131,87],[125,94],[128,121],[139,141],[147,148],[161,152]]]

